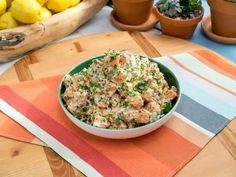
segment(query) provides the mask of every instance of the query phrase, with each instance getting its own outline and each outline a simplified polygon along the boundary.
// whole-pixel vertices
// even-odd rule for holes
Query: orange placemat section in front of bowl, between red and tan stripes
[[[85,134],[82,136],[90,145],[135,177],[173,176],[201,150],[165,126],[128,140],[101,139]]]

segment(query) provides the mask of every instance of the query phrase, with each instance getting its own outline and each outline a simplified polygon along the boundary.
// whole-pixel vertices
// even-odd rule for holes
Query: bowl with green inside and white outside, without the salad
[[[80,72],[84,68],[88,68],[93,60],[98,59],[102,60],[104,58],[104,55],[96,56],[93,58],[90,58],[75,67],[73,67],[71,70],[66,75],[74,75],[75,73]],[[130,128],[130,129],[105,129],[105,128],[99,128],[99,127],[94,127],[92,125],[86,124],[85,122],[80,121],[78,118],[76,118],[74,115],[70,113],[70,111],[66,108],[65,102],[62,99],[62,94],[65,92],[65,86],[63,84],[63,80],[65,76],[62,78],[58,90],[58,99],[60,102],[60,105],[62,109],[64,110],[65,114],[68,116],[68,118],[75,123],[78,127],[83,129],[84,131],[104,137],[104,138],[111,138],[111,139],[127,139],[127,138],[134,138],[138,137],[141,135],[145,135],[147,133],[150,133],[160,126],[162,126],[165,122],[167,122],[171,118],[171,114],[175,111],[181,97],[181,91],[180,91],[180,85],[179,81],[177,80],[177,77],[175,74],[166,66],[163,64],[157,62],[154,59],[149,58],[151,62],[155,62],[158,64],[160,71],[164,74],[165,80],[168,82],[169,86],[175,86],[178,90],[178,96],[172,101],[172,109],[166,113],[162,118],[158,119],[155,122],[140,126],[140,127],[135,127],[135,128]]]

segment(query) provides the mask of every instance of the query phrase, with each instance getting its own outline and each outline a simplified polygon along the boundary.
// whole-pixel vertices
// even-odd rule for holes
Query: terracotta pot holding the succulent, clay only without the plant
[[[197,24],[201,21],[204,9],[202,8],[201,15],[187,20],[166,17],[162,15],[158,9],[157,13],[163,34],[188,39],[192,37]]]

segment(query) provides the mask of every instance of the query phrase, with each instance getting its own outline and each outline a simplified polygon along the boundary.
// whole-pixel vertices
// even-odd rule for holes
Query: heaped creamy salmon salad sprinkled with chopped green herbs
[[[101,60],[63,79],[62,98],[79,120],[100,128],[129,129],[161,119],[177,88],[158,64],[128,51],[108,50]]]

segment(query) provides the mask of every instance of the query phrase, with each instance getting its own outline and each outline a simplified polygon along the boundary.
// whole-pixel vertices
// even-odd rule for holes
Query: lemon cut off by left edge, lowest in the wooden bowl
[[[11,12],[6,12],[0,17],[0,30],[15,28],[19,25],[20,23],[12,17]]]

